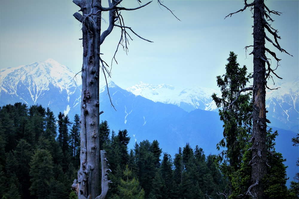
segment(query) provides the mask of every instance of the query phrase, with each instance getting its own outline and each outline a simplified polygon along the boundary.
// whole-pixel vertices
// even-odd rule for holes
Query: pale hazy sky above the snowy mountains
[[[142,3],[148,1],[141,0]],[[105,2],[105,0],[102,0]],[[281,36],[280,46],[294,57],[280,53],[277,74],[286,81],[298,78],[298,0],[265,1],[272,26]],[[174,10],[178,21],[156,0],[135,11],[122,11],[125,25],[154,43],[130,35],[128,55],[118,51],[113,62],[112,81],[127,88],[139,81],[173,86],[218,88],[216,76],[225,72],[230,51],[238,55],[239,64],[252,71],[253,18],[249,9],[225,16],[244,7],[244,1],[164,0]],[[136,0],[123,0],[124,7],[137,7]],[[71,0],[1,0],[0,1],[0,68],[17,67],[53,58],[75,72],[82,67],[81,25],[72,15],[80,8]],[[104,13],[104,18],[108,13]],[[106,18],[107,19],[107,18]],[[103,29],[103,28],[102,28]],[[120,38],[115,27],[101,46],[103,59],[111,63]],[[270,44],[268,44],[268,47]],[[272,47],[271,47],[272,48]],[[273,49],[273,48],[272,48]],[[274,62],[274,60],[273,60]],[[276,66],[276,62],[273,63]]]

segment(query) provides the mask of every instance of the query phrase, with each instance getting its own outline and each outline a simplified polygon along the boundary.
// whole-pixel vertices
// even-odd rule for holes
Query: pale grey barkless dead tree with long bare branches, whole
[[[121,35],[118,47],[121,45],[127,50],[128,39],[131,38],[127,30],[130,30],[138,37],[140,36],[130,27],[124,25],[120,10],[136,10],[146,6],[152,1],[144,5],[139,4],[139,6],[135,8],[122,7],[120,5],[122,0],[108,0],[109,7],[102,7],[101,0],[73,0],[73,2],[80,7],[79,12],[82,12],[82,14],[78,12],[74,13],[74,17],[82,23],[83,64],[81,70],[80,169],[78,171],[78,180],[74,180],[72,188],[76,190],[79,199],[99,199],[106,197],[109,183],[107,178],[109,169],[107,168],[106,153],[104,150],[99,150],[99,115],[102,113],[99,110],[100,70],[104,72],[105,78],[106,74],[110,76],[110,72],[106,69],[108,65],[100,57],[102,54],[100,53],[100,45],[112,32],[114,27],[119,27],[121,29]],[[140,0],[136,2],[141,3]],[[158,4],[165,7],[160,0],[158,0]],[[167,8],[167,10],[169,9]],[[102,12],[104,11],[109,12],[109,27],[102,32],[101,20]],[[172,13],[172,11],[170,12]],[[115,55],[113,58],[115,59]],[[102,161],[102,177],[100,177],[100,160]],[[99,190],[100,179],[102,188],[101,194]]]

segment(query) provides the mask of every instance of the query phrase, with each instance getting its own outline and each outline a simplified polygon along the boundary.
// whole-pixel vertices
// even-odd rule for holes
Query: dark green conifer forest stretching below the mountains
[[[102,121],[99,132],[113,182],[107,198],[224,198],[228,192],[228,176],[214,163],[215,155],[206,156],[200,146],[178,146],[171,157],[162,154],[157,140],[144,140],[128,149],[127,130],[110,130],[107,121]],[[76,198],[71,184],[80,164],[79,134],[78,115],[71,121],[68,115],[60,112],[55,117],[40,105],[1,107],[0,198]],[[276,195],[289,197],[292,190],[285,185],[283,158],[275,154],[271,164],[277,166],[270,170],[274,175],[267,176],[266,190],[276,189]],[[232,176],[239,193],[250,181],[249,170],[245,166]]]

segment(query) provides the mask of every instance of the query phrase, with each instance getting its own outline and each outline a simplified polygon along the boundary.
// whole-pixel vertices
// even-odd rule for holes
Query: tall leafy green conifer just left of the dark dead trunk
[[[251,93],[240,94],[241,90],[251,90],[246,88],[250,75],[247,75],[247,68],[244,65],[239,67],[237,55],[230,52],[225,65],[226,73],[217,76],[217,85],[221,90],[221,98],[213,93],[212,98],[219,109],[220,120],[223,121],[223,139],[217,144],[217,149],[225,147],[217,161],[222,172],[228,176],[231,182],[231,174],[237,171],[242,162],[245,152],[246,142],[251,133],[252,104],[250,102]],[[233,103],[233,101],[235,101]],[[246,140],[247,139],[247,140]],[[229,165],[221,164],[222,160],[228,160]],[[229,195],[231,194],[231,184]]]

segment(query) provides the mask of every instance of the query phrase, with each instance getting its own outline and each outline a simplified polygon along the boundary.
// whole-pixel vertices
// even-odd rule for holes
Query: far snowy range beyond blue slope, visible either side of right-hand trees
[[[266,95],[266,108],[270,126],[288,129],[297,132],[299,129],[299,84],[298,79],[292,82],[278,81],[268,90]],[[154,102],[174,104],[187,112],[195,109],[217,111],[216,104],[211,95],[220,91],[209,88],[177,88],[167,84],[145,84],[140,82],[126,90],[134,95],[140,95]]]

